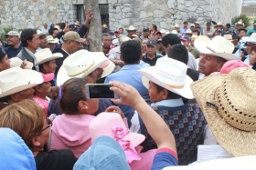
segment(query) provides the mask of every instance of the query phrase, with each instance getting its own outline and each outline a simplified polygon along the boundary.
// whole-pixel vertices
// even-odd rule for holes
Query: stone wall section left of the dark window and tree
[[[41,27],[43,23],[76,21],[76,6],[83,0],[1,0],[2,26],[16,29]]]

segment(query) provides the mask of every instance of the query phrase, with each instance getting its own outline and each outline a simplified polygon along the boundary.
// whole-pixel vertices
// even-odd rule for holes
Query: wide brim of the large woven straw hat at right
[[[241,131],[225,122],[216,108],[207,102],[215,103],[214,93],[227,75],[208,75],[191,85],[197,103],[202,109],[208,125],[221,145],[230,155],[243,156],[256,154],[256,132]]]

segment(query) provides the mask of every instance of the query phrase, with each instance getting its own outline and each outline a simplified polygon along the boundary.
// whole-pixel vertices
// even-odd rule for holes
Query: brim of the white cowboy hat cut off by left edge
[[[5,91],[4,93],[0,94],[0,98],[7,95],[16,94],[18,92],[26,90],[27,88],[31,88],[35,85],[39,85],[44,82],[43,76],[39,72],[30,69],[22,69],[21,72],[22,75],[26,75],[27,77],[29,77],[29,82],[27,82],[27,85],[19,85],[14,88],[11,88]]]

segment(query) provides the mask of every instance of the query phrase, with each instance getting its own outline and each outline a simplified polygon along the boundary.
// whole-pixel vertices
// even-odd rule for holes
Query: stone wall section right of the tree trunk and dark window
[[[226,24],[239,15],[234,0],[109,0],[109,5],[112,29],[134,25],[142,30],[155,24],[171,31],[173,25],[182,25],[186,20],[204,26],[212,17]]]

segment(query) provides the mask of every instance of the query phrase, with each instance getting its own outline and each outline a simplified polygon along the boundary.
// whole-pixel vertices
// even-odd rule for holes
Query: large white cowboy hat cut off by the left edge
[[[0,72],[0,97],[16,94],[43,83],[43,76],[34,70],[13,67]]]

